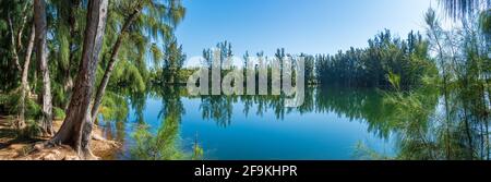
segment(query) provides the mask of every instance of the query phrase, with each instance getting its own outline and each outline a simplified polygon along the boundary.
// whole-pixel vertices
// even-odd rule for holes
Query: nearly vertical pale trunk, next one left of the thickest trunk
[[[47,20],[45,0],[34,1],[34,24],[36,26],[36,59],[39,62],[43,76],[43,118],[41,129],[44,135],[52,135],[52,104],[51,80],[49,78],[48,50],[47,50]]]

